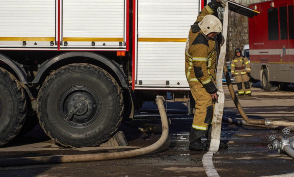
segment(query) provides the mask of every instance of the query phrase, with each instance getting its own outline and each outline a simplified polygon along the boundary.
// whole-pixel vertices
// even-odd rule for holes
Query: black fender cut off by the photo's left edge
[[[12,61],[11,58],[8,56],[0,54],[0,61],[5,63],[9,68],[11,68],[15,73],[16,77],[23,83],[23,84],[28,84],[27,76],[25,72],[21,69],[20,66],[18,66],[14,61]]]

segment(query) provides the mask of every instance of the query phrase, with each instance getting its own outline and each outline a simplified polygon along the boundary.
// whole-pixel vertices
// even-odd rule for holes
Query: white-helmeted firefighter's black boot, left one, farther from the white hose
[[[205,133],[206,131],[191,128],[189,136],[189,149],[191,151],[207,151],[207,147],[201,142],[201,136]]]

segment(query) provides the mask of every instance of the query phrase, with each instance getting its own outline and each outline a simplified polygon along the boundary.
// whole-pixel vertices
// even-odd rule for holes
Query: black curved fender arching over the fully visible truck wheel
[[[42,63],[41,66],[39,66],[39,69],[37,71],[37,74],[36,74],[36,77],[33,81],[33,84],[39,83],[43,74],[46,73],[46,71],[48,71],[51,68],[51,66],[59,63],[60,61],[65,61],[71,57],[85,57],[85,58],[93,59],[93,60],[96,60],[96,61],[99,61],[99,62],[105,64],[116,74],[116,76],[118,77],[118,79],[121,83],[121,86],[123,88],[128,88],[128,82],[126,80],[126,77],[125,77],[123,70],[114,61],[111,61],[110,59],[106,58],[105,56],[96,54],[94,52],[79,52],[79,51],[66,52],[66,53],[60,54],[58,56],[55,56],[52,59],[49,59],[49,60],[45,61],[44,63]]]

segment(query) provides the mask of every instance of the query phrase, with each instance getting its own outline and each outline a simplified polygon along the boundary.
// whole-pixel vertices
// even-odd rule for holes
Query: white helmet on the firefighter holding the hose
[[[223,25],[220,20],[214,15],[206,15],[202,21],[198,24],[200,29],[205,35],[211,32],[220,33],[223,31]]]

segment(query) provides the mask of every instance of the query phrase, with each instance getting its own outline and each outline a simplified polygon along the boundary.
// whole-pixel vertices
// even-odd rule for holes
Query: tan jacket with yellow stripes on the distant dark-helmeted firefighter
[[[250,63],[247,57],[239,56],[235,57],[231,63],[231,74],[232,75],[243,75],[246,73],[250,73]]]

